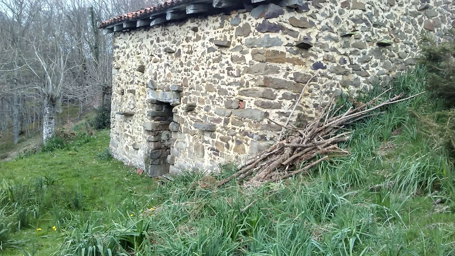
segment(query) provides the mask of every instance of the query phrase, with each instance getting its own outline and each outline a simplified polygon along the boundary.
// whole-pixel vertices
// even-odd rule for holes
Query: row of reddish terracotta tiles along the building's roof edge
[[[141,9],[138,11],[134,11],[134,12],[128,12],[126,14],[118,15],[110,20],[103,21],[103,22],[101,22],[100,26],[98,26],[98,28],[105,28],[106,26],[109,26],[112,24],[116,24],[116,23],[120,23],[120,22],[128,21],[128,20],[138,19],[138,18],[141,18],[148,14],[151,14],[155,11],[163,10],[163,9],[169,8],[171,6],[180,5],[185,2],[189,2],[189,1],[190,0],[164,0],[162,3],[159,3],[158,5],[153,5],[151,7],[147,7],[147,8],[144,8],[144,9]]]

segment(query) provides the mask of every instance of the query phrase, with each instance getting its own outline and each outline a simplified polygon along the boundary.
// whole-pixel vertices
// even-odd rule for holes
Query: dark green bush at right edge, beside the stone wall
[[[435,97],[445,100],[448,107],[455,106],[455,33],[446,34],[448,41],[438,43],[425,33],[420,41],[420,64],[425,65],[428,76],[426,89]]]

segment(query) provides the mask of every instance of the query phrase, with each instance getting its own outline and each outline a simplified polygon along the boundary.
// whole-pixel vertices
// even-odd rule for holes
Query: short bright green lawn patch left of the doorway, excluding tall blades
[[[135,169],[112,158],[99,158],[109,144],[108,130],[96,133],[87,144],[79,147],[74,147],[74,144],[70,143],[71,148],[68,149],[0,162],[1,177],[16,185],[34,184],[41,177],[50,184],[42,189],[46,195],[39,216],[32,216],[30,225],[24,229],[18,231],[15,227],[12,230],[12,239],[28,241],[21,245],[25,250],[31,251],[29,247],[33,236],[35,245],[38,245],[36,255],[55,252],[63,241],[61,234],[64,231],[51,229],[58,225],[54,215],[61,215],[58,219],[62,228],[68,227],[67,223],[75,219],[96,219],[110,224],[117,209],[131,206],[131,202],[123,202],[126,198],[134,198],[134,194],[141,195],[154,187],[153,179],[138,176]],[[78,195],[82,195],[79,203],[76,200],[80,197]],[[41,230],[36,230],[38,228]],[[22,254],[19,250],[1,252],[2,256]]]

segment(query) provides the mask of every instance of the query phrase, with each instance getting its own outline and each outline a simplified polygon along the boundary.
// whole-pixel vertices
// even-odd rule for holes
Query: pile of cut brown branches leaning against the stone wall
[[[270,122],[281,125],[284,128],[283,131],[286,131],[282,134],[286,134],[286,136],[280,135],[277,143],[239,165],[238,172],[218,182],[217,186],[222,186],[231,179],[248,182],[276,182],[297,174],[308,173],[308,170],[313,166],[327,160],[329,155],[349,154],[348,151],[338,146],[338,143],[348,141],[349,135],[354,132],[346,128],[348,125],[384,113],[375,110],[386,105],[406,101],[424,93],[421,92],[406,98],[402,98],[403,93],[401,93],[377,103],[379,98],[391,89],[386,90],[369,102],[359,103],[357,107],[350,107],[346,111],[342,111],[345,104],[338,107],[336,101],[329,103],[323,110],[319,111],[318,117],[313,122],[302,128],[288,122],[281,124],[268,118]],[[315,160],[318,156],[320,158]],[[299,163],[298,169],[290,168],[297,163]]]

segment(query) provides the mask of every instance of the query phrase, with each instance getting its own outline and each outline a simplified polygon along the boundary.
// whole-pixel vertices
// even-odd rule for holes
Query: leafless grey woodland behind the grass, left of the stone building
[[[112,35],[97,26],[158,1],[0,0],[0,119],[12,119],[15,142],[41,116],[50,138],[63,100],[110,110]]]

